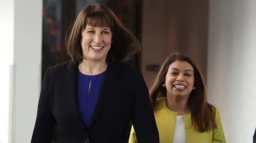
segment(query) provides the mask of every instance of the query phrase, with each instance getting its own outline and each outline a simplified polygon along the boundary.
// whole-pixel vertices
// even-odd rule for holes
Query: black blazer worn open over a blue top
[[[158,143],[159,136],[142,74],[129,65],[111,62],[103,79],[90,127],[78,108],[78,65],[69,61],[49,68],[42,82],[31,143],[123,143],[130,121],[139,143]]]

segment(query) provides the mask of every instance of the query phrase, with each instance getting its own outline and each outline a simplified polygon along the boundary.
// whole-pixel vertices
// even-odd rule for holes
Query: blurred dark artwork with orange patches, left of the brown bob
[[[43,0],[42,78],[61,52],[61,0]]]

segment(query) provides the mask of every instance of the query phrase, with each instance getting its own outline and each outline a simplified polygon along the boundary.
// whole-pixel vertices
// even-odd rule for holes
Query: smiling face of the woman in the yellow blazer
[[[188,96],[194,88],[193,67],[188,62],[173,62],[166,73],[165,86],[170,95]]]

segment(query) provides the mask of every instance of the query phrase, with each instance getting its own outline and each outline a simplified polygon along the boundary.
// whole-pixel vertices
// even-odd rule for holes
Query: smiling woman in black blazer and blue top
[[[67,38],[71,61],[46,71],[32,143],[122,143],[132,121],[139,143],[159,142],[142,74],[122,63],[140,49],[106,6],[77,16]]]

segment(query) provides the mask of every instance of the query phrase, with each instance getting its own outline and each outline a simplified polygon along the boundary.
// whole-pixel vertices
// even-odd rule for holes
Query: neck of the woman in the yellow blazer
[[[178,115],[185,115],[190,113],[189,106],[188,106],[188,96],[174,96],[167,94],[166,99],[166,106],[169,110],[173,112],[177,112]]]

